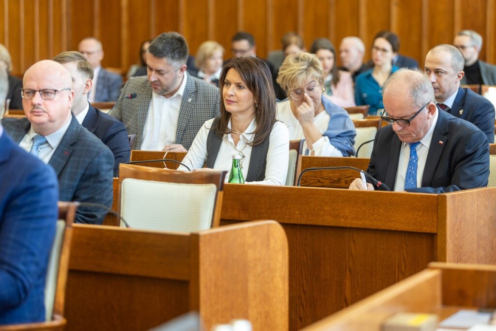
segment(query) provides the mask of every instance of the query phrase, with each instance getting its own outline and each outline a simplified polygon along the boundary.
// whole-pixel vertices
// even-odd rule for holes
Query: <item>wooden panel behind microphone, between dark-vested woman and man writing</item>
[[[367,170],[370,159],[361,157],[323,157],[303,156],[301,171],[308,168],[321,167],[355,167]],[[297,180],[300,174],[297,174]],[[347,189],[355,178],[360,178],[360,173],[355,170],[316,170],[303,174],[300,186],[327,187]]]

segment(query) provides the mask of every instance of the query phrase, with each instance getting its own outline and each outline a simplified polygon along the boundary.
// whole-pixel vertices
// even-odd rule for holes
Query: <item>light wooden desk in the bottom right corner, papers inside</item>
[[[442,321],[460,309],[496,308],[496,266],[432,263],[429,268],[336,313],[305,331],[380,331],[400,312]]]

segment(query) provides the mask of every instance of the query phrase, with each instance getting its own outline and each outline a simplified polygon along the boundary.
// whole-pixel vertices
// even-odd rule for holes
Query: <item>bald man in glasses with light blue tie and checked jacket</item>
[[[69,72],[44,60],[24,74],[21,90],[26,118],[2,120],[19,146],[51,165],[59,178],[59,199],[112,205],[114,155],[72,115],[74,100]],[[106,210],[81,206],[78,223],[101,224]]]

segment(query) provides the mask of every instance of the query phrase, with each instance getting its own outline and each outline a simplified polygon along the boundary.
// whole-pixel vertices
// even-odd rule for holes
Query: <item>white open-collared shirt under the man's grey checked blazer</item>
[[[148,115],[143,129],[141,150],[162,150],[166,145],[176,142],[179,110],[186,88],[187,74],[173,96],[166,98],[163,95],[152,93],[152,100],[148,108]]]

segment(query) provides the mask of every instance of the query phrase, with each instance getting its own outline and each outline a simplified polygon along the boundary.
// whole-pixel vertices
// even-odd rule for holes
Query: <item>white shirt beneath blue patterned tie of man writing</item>
[[[422,186],[422,178],[424,177],[424,168],[426,167],[427,154],[429,146],[433,139],[434,127],[437,123],[439,113],[435,112],[433,123],[429,131],[420,139],[420,144],[417,145],[417,187]],[[410,145],[407,142],[401,144],[400,156],[398,160],[398,170],[396,171],[396,180],[394,181],[393,191],[405,191],[405,176],[408,168],[408,160],[410,159]]]

